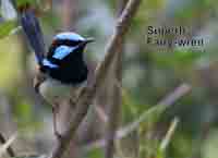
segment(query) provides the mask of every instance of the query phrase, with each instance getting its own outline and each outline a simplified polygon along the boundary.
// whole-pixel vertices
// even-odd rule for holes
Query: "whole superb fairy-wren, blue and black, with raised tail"
[[[45,53],[43,33],[33,10],[22,12],[21,24],[38,63],[40,75],[36,76],[34,87],[56,110],[61,99],[72,98],[86,83],[88,69],[83,51],[86,45],[94,40],[73,32],[59,33]],[[55,133],[59,135],[56,127],[56,111],[53,117]]]

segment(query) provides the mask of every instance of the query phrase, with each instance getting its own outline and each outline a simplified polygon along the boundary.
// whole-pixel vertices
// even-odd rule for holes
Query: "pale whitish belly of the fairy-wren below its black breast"
[[[41,83],[39,93],[46,101],[53,105],[61,102],[62,99],[73,99],[73,97],[76,97],[77,89],[78,86],[73,87],[61,84],[59,81],[47,78],[44,83]]]

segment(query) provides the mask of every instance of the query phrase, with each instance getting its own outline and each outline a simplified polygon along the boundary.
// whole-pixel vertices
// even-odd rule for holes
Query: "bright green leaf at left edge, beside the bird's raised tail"
[[[9,36],[13,32],[19,29],[15,21],[7,21],[0,24],[0,39]]]

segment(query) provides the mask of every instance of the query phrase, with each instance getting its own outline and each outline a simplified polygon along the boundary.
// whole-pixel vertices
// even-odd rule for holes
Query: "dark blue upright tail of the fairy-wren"
[[[39,22],[36,19],[33,10],[28,9],[22,12],[21,24],[28,38],[29,45],[35,51],[37,62],[39,65],[41,65],[45,54],[45,42]]]

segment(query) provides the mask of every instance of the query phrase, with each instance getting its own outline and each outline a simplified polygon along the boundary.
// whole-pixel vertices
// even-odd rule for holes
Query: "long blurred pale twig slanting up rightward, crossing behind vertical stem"
[[[125,136],[128,136],[130,133],[138,129],[140,124],[147,119],[149,119],[150,116],[153,116],[155,112],[159,112],[161,114],[165,112],[168,108],[170,108],[178,99],[186,95],[187,93],[191,92],[191,86],[187,84],[182,84],[179,87],[177,87],[172,93],[170,93],[167,97],[165,97],[162,100],[160,100],[155,107],[152,107],[144,113],[142,113],[137,120],[131,122],[124,127],[121,127],[120,130],[117,131],[116,138],[121,139]],[[84,150],[92,150],[94,148],[101,148],[105,147],[106,141],[98,139],[95,141],[94,143],[89,143],[88,145],[84,146]]]

